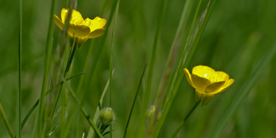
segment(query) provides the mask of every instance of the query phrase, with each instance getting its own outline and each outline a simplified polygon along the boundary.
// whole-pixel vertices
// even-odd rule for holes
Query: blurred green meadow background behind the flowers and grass
[[[112,2],[107,0],[102,18],[108,18]],[[199,22],[207,2],[203,0],[196,22]],[[65,3],[65,1],[56,1],[54,13],[58,17],[60,17],[61,9],[66,7]],[[103,1],[98,0],[78,1],[77,7],[84,18],[93,19],[100,14],[102,3]],[[114,138],[123,137],[139,78],[145,64],[150,62],[160,3],[159,0],[120,0],[113,63],[115,71],[112,100],[116,113],[116,120],[113,123],[113,129],[116,129],[113,132]],[[154,101],[184,3],[183,0],[169,0],[168,2],[157,51],[150,103]],[[19,4],[18,1],[11,0],[0,1],[0,5],[0,102],[15,132]],[[195,6],[196,4],[192,11],[195,10]],[[50,7],[50,1],[23,1],[22,120],[39,98],[41,91]],[[191,71],[196,65],[207,65],[215,70],[228,73],[230,78],[235,79],[235,82],[227,91],[217,94],[207,106],[198,107],[179,131],[179,137],[203,138],[214,129],[240,87],[275,40],[275,7],[275,0],[217,0],[188,69]],[[189,20],[192,19],[193,12],[191,14]],[[84,100],[84,107],[91,116],[94,115],[109,78],[111,30],[112,27],[108,32],[105,45],[97,45],[99,38],[94,38],[96,39],[95,46],[103,49],[96,73],[90,80],[92,85],[86,92]],[[52,56],[57,47],[59,33],[60,29],[54,24]],[[73,74],[83,70],[90,42],[91,39],[77,49],[73,61]],[[183,47],[183,44],[180,46]],[[238,108],[221,137],[276,137],[275,63],[276,55]],[[139,97],[145,89],[147,70]],[[78,80],[79,77],[71,81],[74,89],[78,85]],[[162,138],[171,136],[194,104],[194,98],[194,88],[184,78],[163,127]],[[70,107],[73,105],[73,100],[70,99],[69,102]],[[107,95],[103,106],[108,106]],[[126,137],[134,137],[136,133],[139,106],[139,100],[137,100]],[[36,112],[37,109],[26,122],[22,130],[23,138],[32,136]],[[81,113],[76,113],[76,115],[79,117],[77,122],[73,122],[76,129],[72,130],[72,135],[70,135],[72,138],[80,138],[83,132],[87,135],[90,127]],[[0,137],[9,137],[2,119],[0,120]],[[59,120],[60,117],[57,118],[57,121]],[[59,129],[58,127],[50,137],[60,137]]]

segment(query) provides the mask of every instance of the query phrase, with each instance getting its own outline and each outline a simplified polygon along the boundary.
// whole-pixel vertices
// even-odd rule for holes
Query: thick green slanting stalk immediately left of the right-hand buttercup
[[[185,56],[185,57],[187,57],[187,59],[184,59],[185,62],[184,62],[184,65],[182,66],[182,68],[186,68],[187,65],[189,64],[190,59],[192,57],[192,54],[193,54],[193,52],[195,50],[195,47],[198,44],[198,41],[199,41],[199,39],[200,39],[200,37],[201,37],[201,35],[202,35],[205,27],[206,27],[206,24],[207,24],[207,22],[209,20],[209,17],[211,15],[211,13],[212,13],[212,10],[214,9],[215,4],[216,4],[216,0],[210,0],[209,1],[209,3],[207,5],[207,7],[206,7],[206,9],[205,9],[205,11],[204,11],[201,19],[200,19],[200,23],[198,25],[198,28],[196,29],[196,33],[195,33],[195,35],[193,37],[194,41],[191,43],[192,46],[191,46],[191,48],[189,50],[190,52],[188,52],[187,56]],[[182,64],[183,64],[183,62],[182,62]],[[176,70],[176,71],[179,72],[180,69]],[[172,104],[172,102],[174,100],[174,97],[175,97],[175,95],[176,95],[176,93],[177,93],[177,91],[179,89],[179,86],[181,84],[183,76],[184,76],[184,72],[180,71],[179,74],[175,78],[176,79],[175,83],[172,82],[172,84],[170,86],[172,89],[170,89],[170,91],[168,93],[169,95],[166,98],[166,103],[165,103],[166,105],[164,104],[164,107],[162,109],[161,118],[159,119],[159,121],[158,121],[158,123],[156,125],[156,128],[155,128],[154,133],[153,133],[153,138],[157,138],[160,135],[161,129],[163,128],[163,125],[164,125],[164,122],[166,120],[167,114],[169,113],[171,104]]]

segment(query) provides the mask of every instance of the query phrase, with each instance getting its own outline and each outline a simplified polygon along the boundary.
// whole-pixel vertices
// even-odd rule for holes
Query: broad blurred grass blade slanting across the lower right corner
[[[245,84],[242,86],[242,88],[237,92],[237,95],[235,99],[233,100],[232,104],[226,111],[226,113],[223,115],[219,123],[217,124],[214,131],[211,133],[210,138],[218,138],[224,131],[225,127],[231,120],[232,116],[235,114],[235,111],[238,109],[240,104],[244,101],[244,99],[249,94],[250,90],[253,88],[254,84],[258,80],[258,78],[261,76],[261,73],[267,66],[267,64],[272,59],[273,55],[276,52],[276,41],[274,44],[272,44],[271,48],[264,54],[263,59],[257,66],[257,68],[254,70],[254,72],[251,74],[251,76],[248,78],[248,80],[245,82]]]

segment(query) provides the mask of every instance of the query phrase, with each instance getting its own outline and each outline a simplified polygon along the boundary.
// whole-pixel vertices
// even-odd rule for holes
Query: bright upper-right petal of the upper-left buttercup
[[[86,18],[84,23],[87,23],[87,26],[90,27],[91,31],[94,31],[98,28],[103,28],[105,26],[106,20],[100,17],[95,17],[93,20]]]

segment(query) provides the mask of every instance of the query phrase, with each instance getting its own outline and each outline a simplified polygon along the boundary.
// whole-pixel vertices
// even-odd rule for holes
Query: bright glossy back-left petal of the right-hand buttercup
[[[203,66],[203,65],[195,66],[192,69],[192,74],[207,78],[211,82],[215,82],[214,79],[216,76],[216,71],[208,66]]]

